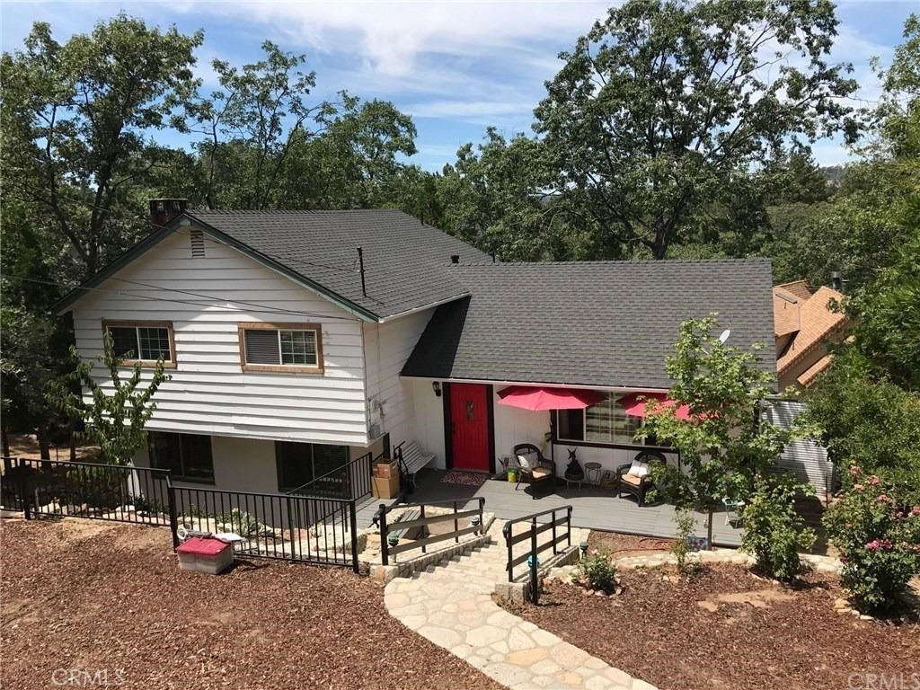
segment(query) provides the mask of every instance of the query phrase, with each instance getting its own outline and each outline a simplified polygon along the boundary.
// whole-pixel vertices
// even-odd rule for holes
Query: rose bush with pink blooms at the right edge
[[[824,515],[844,564],[842,580],[861,611],[885,613],[920,574],[920,505],[903,504],[879,477],[850,469],[852,486]]]

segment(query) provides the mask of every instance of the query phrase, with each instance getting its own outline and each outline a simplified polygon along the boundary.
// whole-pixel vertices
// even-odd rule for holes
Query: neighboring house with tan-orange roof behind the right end
[[[850,320],[834,309],[844,298],[829,287],[814,293],[805,281],[773,288],[776,373],[780,390],[806,388],[831,363],[828,346],[845,339]]]

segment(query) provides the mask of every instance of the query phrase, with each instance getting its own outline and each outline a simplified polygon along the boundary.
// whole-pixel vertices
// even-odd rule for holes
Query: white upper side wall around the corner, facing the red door
[[[432,313],[433,309],[426,309],[384,324],[364,325],[371,420],[381,426],[381,433],[390,434],[393,445],[415,438],[412,386],[399,373]],[[381,403],[383,415],[374,401]]]

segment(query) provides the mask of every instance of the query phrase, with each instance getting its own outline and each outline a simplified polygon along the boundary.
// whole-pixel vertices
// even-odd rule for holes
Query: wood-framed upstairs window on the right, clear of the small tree
[[[239,324],[243,371],[322,374],[322,334],[316,324]]]

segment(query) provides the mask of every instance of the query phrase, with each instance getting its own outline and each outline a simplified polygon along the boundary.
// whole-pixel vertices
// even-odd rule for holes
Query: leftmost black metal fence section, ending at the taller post
[[[4,458],[0,504],[27,518],[92,518],[167,526],[169,471],[150,467]]]

